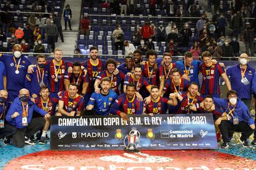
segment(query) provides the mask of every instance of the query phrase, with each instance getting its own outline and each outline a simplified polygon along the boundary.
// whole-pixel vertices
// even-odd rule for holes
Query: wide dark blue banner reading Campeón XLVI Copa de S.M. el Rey
[[[128,116],[54,116],[50,150],[124,150],[130,136],[139,150],[218,148],[210,113]]]

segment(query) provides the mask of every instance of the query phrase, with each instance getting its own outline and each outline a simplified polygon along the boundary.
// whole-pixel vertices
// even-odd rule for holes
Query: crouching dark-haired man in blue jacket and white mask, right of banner
[[[247,106],[237,99],[237,92],[228,91],[227,99],[213,98],[215,106],[223,110],[223,114],[217,119],[216,125],[220,127],[223,143],[222,148],[229,147],[228,132],[241,132],[239,141],[243,147],[249,147],[247,141],[254,132],[255,123]]]

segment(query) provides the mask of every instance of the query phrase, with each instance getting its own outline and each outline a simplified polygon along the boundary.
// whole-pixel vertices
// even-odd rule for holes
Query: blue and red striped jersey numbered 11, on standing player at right
[[[221,67],[218,63],[213,63],[210,67],[207,67],[205,63],[202,63],[199,70],[203,75],[201,94],[220,94],[219,80],[220,76],[225,73],[223,67]]]

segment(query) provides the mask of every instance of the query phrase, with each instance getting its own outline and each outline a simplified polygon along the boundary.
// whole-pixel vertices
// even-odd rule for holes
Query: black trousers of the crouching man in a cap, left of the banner
[[[11,137],[11,142],[15,147],[22,148],[25,145],[25,134],[28,138],[31,138],[37,131],[45,125],[44,118],[33,118],[27,127],[19,129]]]

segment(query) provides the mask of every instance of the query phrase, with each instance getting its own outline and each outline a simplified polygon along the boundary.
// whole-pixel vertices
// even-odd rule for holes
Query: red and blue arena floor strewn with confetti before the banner
[[[218,150],[49,151],[46,145],[2,145],[0,169],[256,169],[256,145]],[[135,168],[136,167],[136,168]]]

